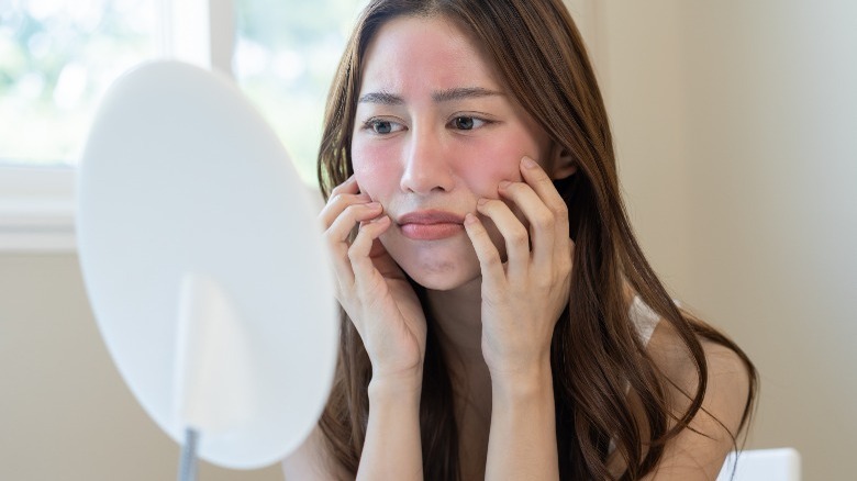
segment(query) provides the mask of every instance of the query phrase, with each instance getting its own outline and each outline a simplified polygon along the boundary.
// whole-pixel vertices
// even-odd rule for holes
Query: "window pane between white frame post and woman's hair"
[[[315,183],[324,102],[365,0],[235,3],[235,78],[277,132],[301,177]]]

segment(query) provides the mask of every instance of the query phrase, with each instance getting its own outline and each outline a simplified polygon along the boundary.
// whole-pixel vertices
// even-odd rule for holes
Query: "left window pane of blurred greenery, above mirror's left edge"
[[[75,164],[100,96],[158,45],[152,0],[0,0],[0,164]]]

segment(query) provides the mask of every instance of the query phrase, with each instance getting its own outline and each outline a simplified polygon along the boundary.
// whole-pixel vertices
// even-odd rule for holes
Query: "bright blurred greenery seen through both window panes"
[[[0,0],[0,164],[77,161],[100,96],[159,55],[157,3]],[[309,182],[324,100],[361,3],[234,0],[236,80]]]

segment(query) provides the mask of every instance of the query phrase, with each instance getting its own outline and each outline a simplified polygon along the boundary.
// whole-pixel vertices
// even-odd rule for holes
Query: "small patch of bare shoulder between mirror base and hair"
[[[348,474],[331,458],[324,444],[324,435],[319,426],[291,455],[282,460],[282,472],[286,481],[346,481],[354,477]]]

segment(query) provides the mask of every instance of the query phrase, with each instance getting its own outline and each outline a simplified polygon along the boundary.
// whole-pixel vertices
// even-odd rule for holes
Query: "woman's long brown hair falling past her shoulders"
[[[568,205],[576,243],[569,305],[556,324],[550,358],[560,477],[610,479],[605,459],[611,440],[626,461],[622,479],[649,472],[666,443],[702,409],[708,366],[700,338],[728,347],[746,365],[750,387],[739,430],[746,427],[756,398],[755,368],[732,340],[679,310],[643,256],[621,199],[603,100],[583,42],[561,0],[370,1],[357,21],[327,100],[318,171],[325,198],[353,174],[350,141],[367,45],[386,22],[401,15],[443,15],[469,33],[523,109],[577,161],[576,175],[555,182]],[[677,418],[666,394],[669,381],[630,320],[625,282],[672,326],[695,365],[698,389],[688,393],[690,406]],[[420,286],[414,288],[424,295]],[[458,479],[452,381],[431,312],[426,315],[420,405],[424,476]],[[341,340],[335,385],[320,427],[335,461],[356,473],[369,413],[371,365],[344,314]],[[644,406],[645,438],[626,392],[636,394]],[[671,428],[670,421],[675,421]]]

